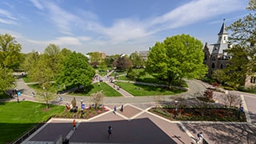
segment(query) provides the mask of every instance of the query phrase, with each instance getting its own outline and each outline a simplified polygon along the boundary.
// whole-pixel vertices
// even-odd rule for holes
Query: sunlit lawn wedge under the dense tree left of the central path
[[[118,97],[122,96],[122,94],[118,93],[112,87],[108,86],[105,82],[100,82],[100,86],[98,86],[98,82],[92,84],[88,87],[88,89],[82,93],[70,93],[71,95],[78,95],[78,96],[90,96],[90,94],[97,93],[98,91],[102,90],[106,97]]]

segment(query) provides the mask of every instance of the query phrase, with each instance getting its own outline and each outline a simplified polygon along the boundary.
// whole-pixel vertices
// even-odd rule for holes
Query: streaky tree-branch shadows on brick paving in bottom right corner
[[[254,143],[256,142],[256,127],[248,123],[184,123],[191,134],[202,131],[204,137],[211,143]]]

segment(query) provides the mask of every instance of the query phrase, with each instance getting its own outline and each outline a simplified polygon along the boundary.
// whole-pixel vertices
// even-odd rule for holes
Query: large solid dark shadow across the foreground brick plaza
[[[107,134],[108,126],[113,128],[110,139]],[[62,134],[62,138],[65,138],[71,129],[71,122],[50,123],[31,140],[54,141],[59,134]],[[180,141],[182,142],[182,140]],[[149,118],[139,118],[131,121],[82,122],[70,137],[70,142],[176,143]]]

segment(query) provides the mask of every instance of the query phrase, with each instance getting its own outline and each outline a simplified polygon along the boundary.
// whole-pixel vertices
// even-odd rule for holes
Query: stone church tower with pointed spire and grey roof
[[[218,33],[218,41],[215,44],[207,44],[204,46],[205,58],[203,63],[208,66],[207,76],[211,76],[214,70],[224,69],[227,66],[230,55],[227,54],[228,49],[228,32],[226,31],[225,19],[222,23],[221,30]]]

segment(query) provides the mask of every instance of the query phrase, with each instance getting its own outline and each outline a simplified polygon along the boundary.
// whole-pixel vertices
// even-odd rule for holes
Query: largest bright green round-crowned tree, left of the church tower
[[[201,78],[206,74],[202,64],[202,42],[188,34],[166,38],[156,42],[150,50],[146,71],[169,83],[181,82],[182,78]]]

